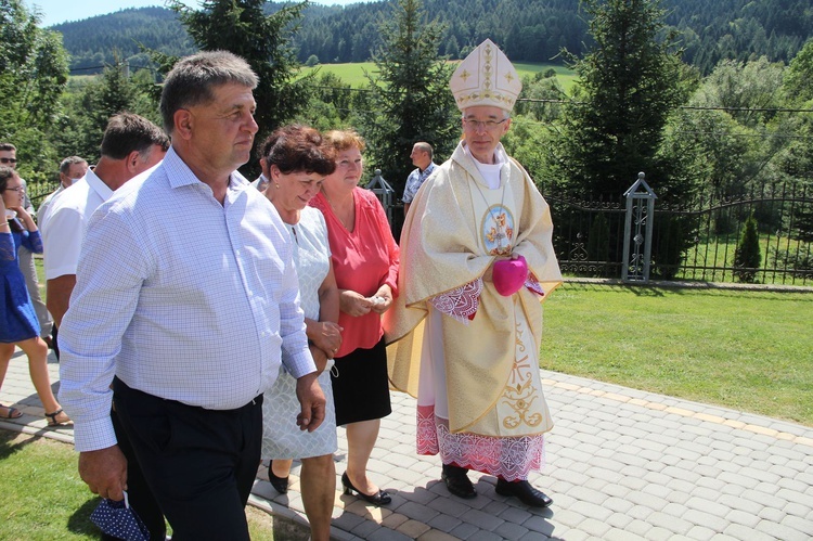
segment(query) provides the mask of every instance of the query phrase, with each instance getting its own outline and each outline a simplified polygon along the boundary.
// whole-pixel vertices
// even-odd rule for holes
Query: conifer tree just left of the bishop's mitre
[[[439,156],[454,149],[457,108],[448,86],[454,68],[438,57],[443,26],[427,23],[421,0],[398,0],[379,30],[377,72],[367,74],[375,115],[360,124],[373,168],[400,194],[414,168],[409,156],[415,142],[428,142]]]

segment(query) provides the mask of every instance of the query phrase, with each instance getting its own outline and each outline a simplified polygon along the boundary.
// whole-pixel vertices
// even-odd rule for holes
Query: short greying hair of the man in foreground
[[[229,51],[204,51],[179,60],[167,74],[160,93],[160,115],[167,133],[175,130],[177,111],[211,102],[214,88],[228,83],[254,90],[259,79],[248,62]]]

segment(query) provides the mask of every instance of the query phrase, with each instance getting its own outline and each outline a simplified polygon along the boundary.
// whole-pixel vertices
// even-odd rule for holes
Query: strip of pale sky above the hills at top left
[[[191,7],[197,7],[196,0],[183,0]],[[325,5],[360,3],[364,0],[312,0]],[[367,0],[369,1],[369,0]],[[51,26],[66,21],[81,21],[94,15],[104,15],[127,8],[145,8],[147,5],[164,5],[164,0],[25,0],[31,9],[35,5],[42,15],[42,26]]]

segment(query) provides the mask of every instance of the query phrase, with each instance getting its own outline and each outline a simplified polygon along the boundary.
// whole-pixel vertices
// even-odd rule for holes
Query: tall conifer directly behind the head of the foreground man
[[[298,77],[300,64],[291,44],[296,23],[308,0],[285,4],[267,15],[267,0],[205,0],[193,10],[178,0],[169,8],[202,50],[227,50],[248,62],[260,79],[254,91],[255,119],[259,125],[255,145],[285,121],[294,118],[308,102],[312,76]],[[258,172],[257,164],[244,166],[247,175]]]

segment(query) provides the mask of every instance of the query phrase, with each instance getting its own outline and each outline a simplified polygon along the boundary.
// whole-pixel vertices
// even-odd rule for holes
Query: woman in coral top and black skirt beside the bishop
[[[347,429],[345,493],[376,505],[391,498],[366,474],[382,417],[392,411],[380,315],[398,294],[398,245],[375,194],[358,186],[364,140],[353,131],[331,131],[336,171],[325,178],[311,205],[327,223],[331,258],[339,287],[341,346],[335,353],[333,395],[336,424]]]

